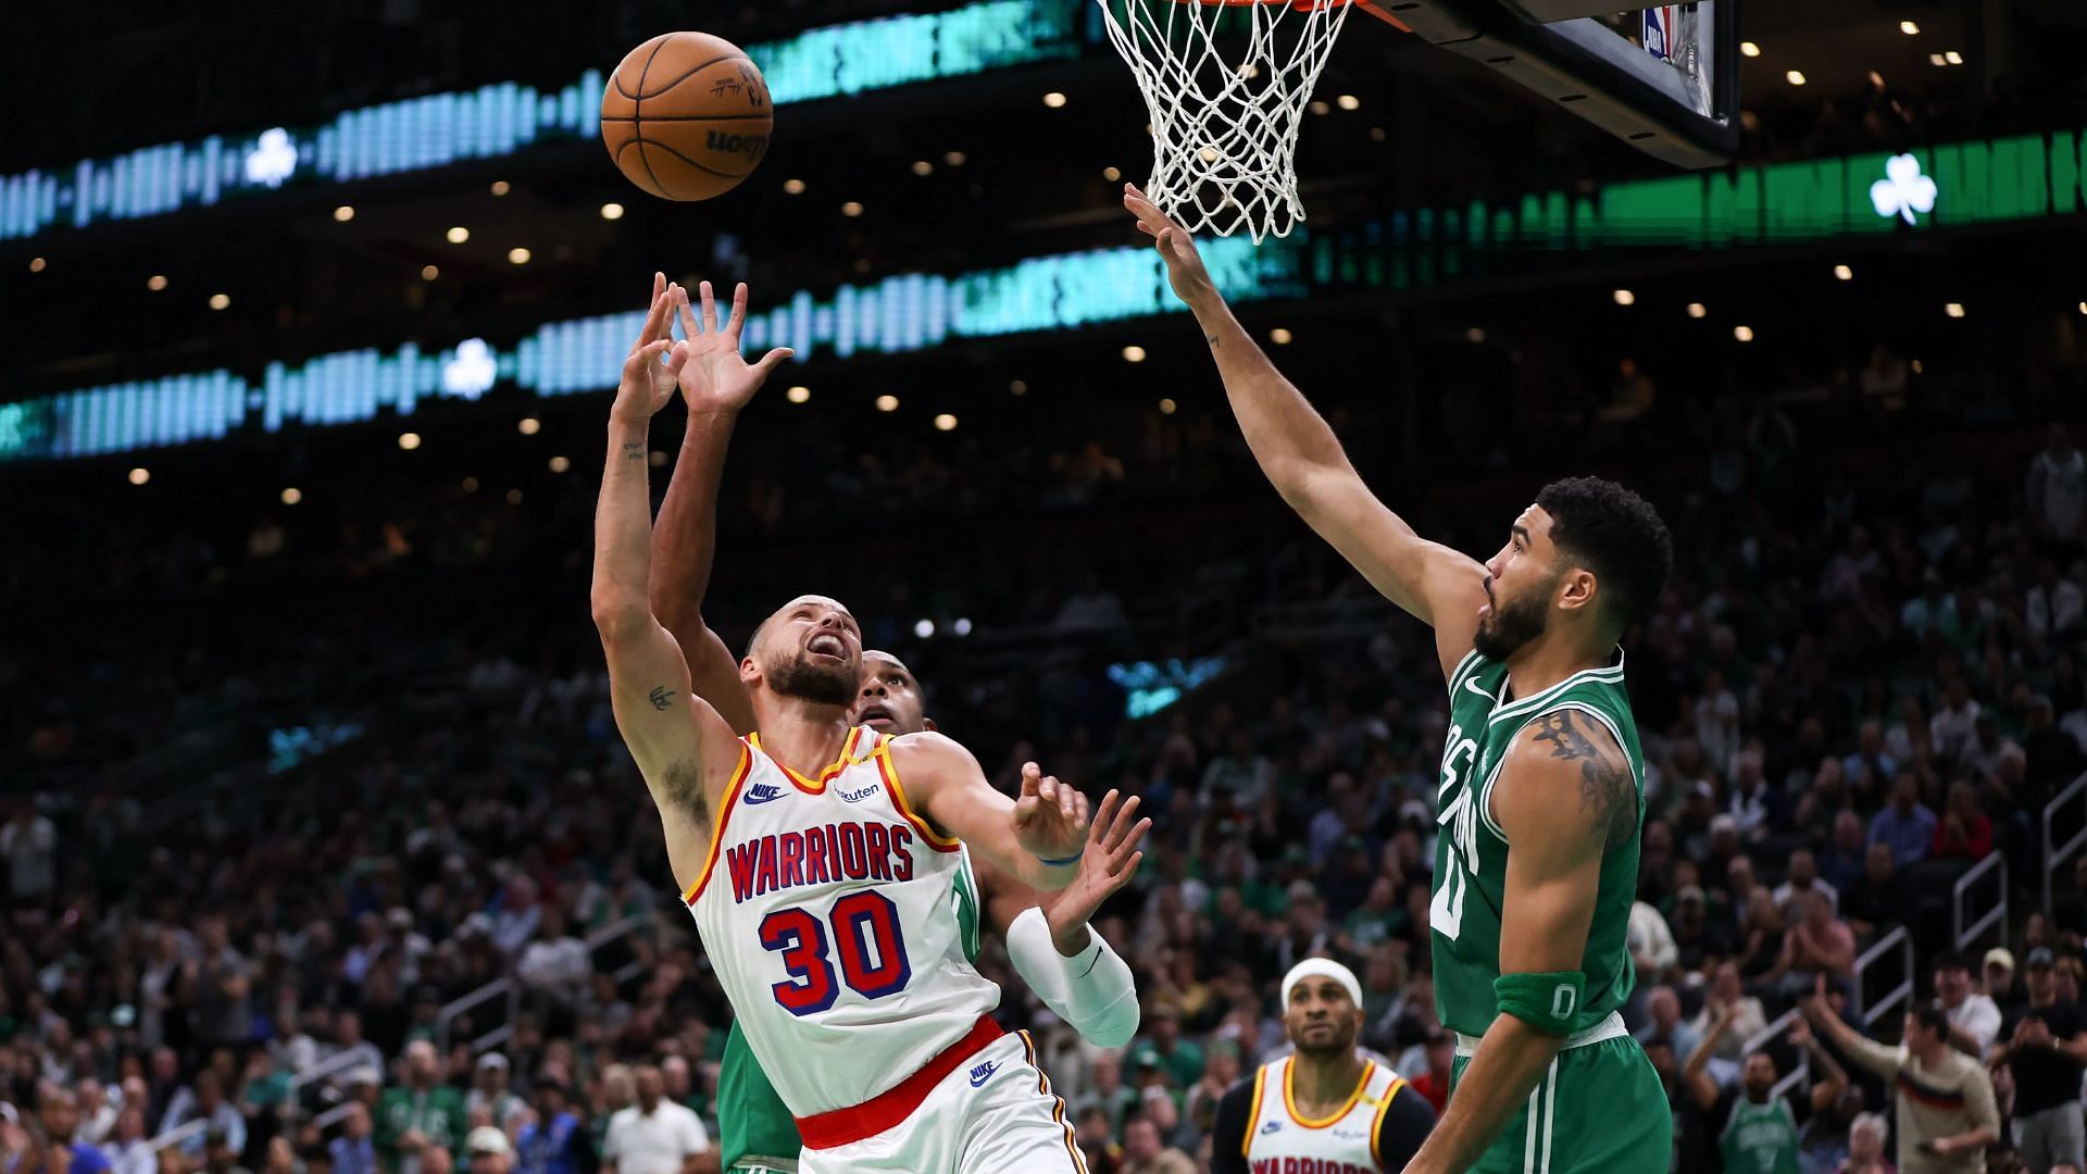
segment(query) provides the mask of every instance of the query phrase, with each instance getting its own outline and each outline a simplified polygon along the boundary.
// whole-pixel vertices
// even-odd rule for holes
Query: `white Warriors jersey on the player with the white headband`
[[[1246,1116],[1246,1168],[1252,1174],[1377,1174],[1377,1126],[1392,1097],[1419,1097],[1390,1067],[1363,1061],[1348,1103],[1327,1118],[1298,1113],[1290,1095],[1294,1057],[1254,1072],[1254,1107]]]

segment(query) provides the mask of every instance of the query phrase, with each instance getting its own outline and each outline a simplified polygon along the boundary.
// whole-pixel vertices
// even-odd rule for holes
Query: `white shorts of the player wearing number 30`
[[[799,1174],[1087,1174],[1029,1032],[1000,1036],[889,1130],[797,1157]]]

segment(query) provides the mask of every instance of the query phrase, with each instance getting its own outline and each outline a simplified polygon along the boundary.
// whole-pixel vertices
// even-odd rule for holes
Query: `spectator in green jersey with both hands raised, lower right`
[[[1709,1057],[1732,1030],[1732,1009],[1718,1013],[1703,1042],[1697,1044],[1682,1067],[1682,1082],[1688,1097],[1703,1109],[1709,1128],[1718,1134],[1718,1153],[1724,1157],[1726,1174],[1797,1174],[1797,1130],[1812,1113],[1832,1111],[1841,1090],[1847,1088],[1847,1072],[1832,1053],[1812,1038],[1812,1028],[1803,1019],[1791,1024],[1791,1044],[1812,1053],[1812,1093],[1805,1097],[1805,1113],[1797,1113],[1786,1097],[1776,1095],[1776,1057],[1766,1051],[1747,1053],[1736,1088],[1718,1088],[1709,1076]]]

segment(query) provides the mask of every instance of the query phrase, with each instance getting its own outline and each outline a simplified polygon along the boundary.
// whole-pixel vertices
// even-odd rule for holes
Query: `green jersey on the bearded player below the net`
[[[1501,978],[1501,907],[1507,896],[1507,833],[1494,821],[1492,788],[1507,748],[1536,719],[1572,710],[1574,721],[1607,729],[1624,754],[1638,790],[1645,821],[1645,756],[1638,727],[1624,694],[1622,652],[1605,668],[1586,668],[1549,689],[1509,700],[1507,664],[1467,654],[1448,679],[1448,739],[1436,798],[1434,988],[1442,1026],[1482,1036],[1498,1015],[1492,982]],[[1601,892],[1580,971],[1586,994],[1572,1011],[1574,1032],[1617,1011],[1636,973],[1624,932],[1638,894],[1638,836],[1601,861]],[[1563,1011],[1563,1009],[1561,1009]]]

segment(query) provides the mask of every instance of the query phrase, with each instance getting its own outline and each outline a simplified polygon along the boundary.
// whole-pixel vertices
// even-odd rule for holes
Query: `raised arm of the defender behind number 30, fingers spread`
[[[653,274],[653,297],[666,288],[666,276]],[[722,328],[710,282],[701,282],[699,292],[701,320],[689,307],[687,290],[674,286],[670,297],[687,336],[687,359],[680,363],[678,382],[680,397],[689,405],[689,422],[666,499],[659,501],[659,522],[653,526],[651,606],[689,658],[695,696],[710,702],[735,733],[751,733],[753,698],[739,679],[739,658],[703,620],[703,591],[710,587],[710,568],[718,551],[718,483],[724,476],[724,449],[733,441],[733,424],[768,372],[795,351],[778,347],[749,366],[739,355],[739,330],[747,318],[745,282],[733,292],[733,309]]]

